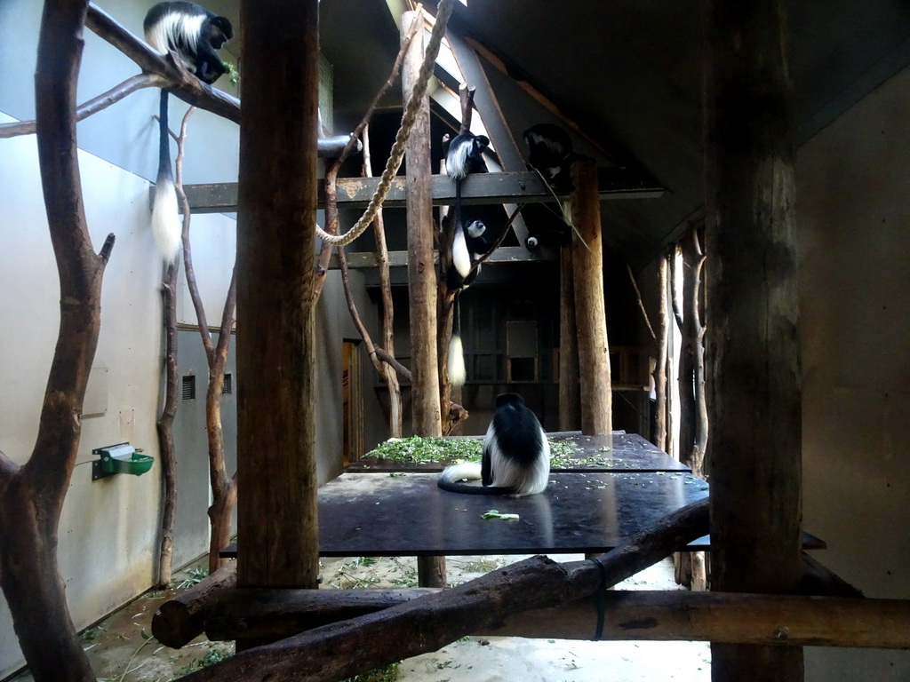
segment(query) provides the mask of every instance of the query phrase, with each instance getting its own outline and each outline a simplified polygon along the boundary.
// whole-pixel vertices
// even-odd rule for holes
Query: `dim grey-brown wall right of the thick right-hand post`
[[[798,154],[804,526],[867,597],[910,598],[910,69]],[[806,679],[910,679],[903,651],[807,649]]]

